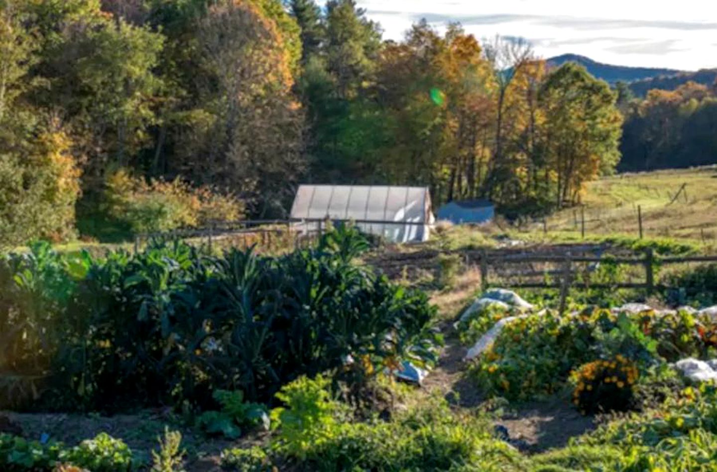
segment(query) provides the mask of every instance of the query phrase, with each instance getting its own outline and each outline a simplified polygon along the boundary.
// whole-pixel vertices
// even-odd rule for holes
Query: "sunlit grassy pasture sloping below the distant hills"
[[[583,203],[587,235],[639,235],[639,206],[645,237],[713,242],[717,238],[717,166],[606,177],[588,184]],[[542,229],[542,224],[536,226]],[[554,214],[547,227],[551,233],[579,235],[581,209]]]

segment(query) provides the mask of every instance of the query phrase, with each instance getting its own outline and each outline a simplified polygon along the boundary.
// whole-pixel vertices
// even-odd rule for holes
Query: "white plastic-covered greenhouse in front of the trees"
[[[354,220],[361,230],[393,242],[426,241],[434,222],[427,187],[377,185],[300,185],[291,217]]]

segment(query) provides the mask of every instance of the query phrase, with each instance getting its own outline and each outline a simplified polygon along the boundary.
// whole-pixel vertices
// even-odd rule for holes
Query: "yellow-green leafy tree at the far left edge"
[[[20,2],[0,4],[0,244],[74,233],[80,171],[57,121],[34,108],[38,43]]]

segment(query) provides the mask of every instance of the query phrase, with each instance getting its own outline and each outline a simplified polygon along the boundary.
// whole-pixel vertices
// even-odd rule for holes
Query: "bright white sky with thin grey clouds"
[[[402,39],[422,18],[460,22],[480,38],[524,37],[538,55],[584,55],[616,65],[717,67],[717,0],[357,0]]]

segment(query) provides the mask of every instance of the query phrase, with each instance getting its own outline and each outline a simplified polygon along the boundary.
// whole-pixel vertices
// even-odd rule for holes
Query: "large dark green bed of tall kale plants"
[[[211,410],[216,390],[266,401],[300,374],[359,385],[403,359],[435,362],[427,295],[354,265],[365,238],[336,232],[278,258],[161,241],[98,260],[47,246],[11,255],[0,265],[3,391],[19,405],[111,411],[141,398]],[[348,357],[361,362],[345,369]],[[224,423],[260,416],[226,395],[217,401],[234,417]]]

